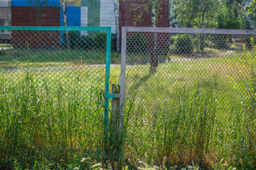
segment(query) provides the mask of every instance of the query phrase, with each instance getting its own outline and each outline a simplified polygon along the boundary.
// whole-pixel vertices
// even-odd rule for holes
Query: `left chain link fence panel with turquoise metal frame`
[[[0,30],[11,31],[11,40],[0,44],[1,151],[7,152],[9,143],[15,147],[10,152],[24,146],[45,152],[83,148],[88,157],[100,159],[110,28]]]

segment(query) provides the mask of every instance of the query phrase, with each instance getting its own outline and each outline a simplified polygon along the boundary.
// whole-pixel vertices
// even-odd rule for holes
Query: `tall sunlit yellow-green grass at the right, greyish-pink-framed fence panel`
[[[169,62],[156,73],[148,65],[128,67],[127,96],[134,106],[125,130],[125,157],[137,167],[140,161],[168,169],[196,162],[218,169],[222,162],[255,169],[252,61],[250,52],[240,52]]]

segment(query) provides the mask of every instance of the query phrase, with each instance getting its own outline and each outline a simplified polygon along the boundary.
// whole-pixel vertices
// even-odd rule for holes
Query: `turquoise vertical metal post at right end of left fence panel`
[[[111,50],[111,27],[107,28],[107,45],[106,45],[106,73],[105,73],[105,114],[104,114],[104,124],[105,124],[105,149],[108,139],[108,110],[109,110],[109,97],[110,92],[110,50]]]

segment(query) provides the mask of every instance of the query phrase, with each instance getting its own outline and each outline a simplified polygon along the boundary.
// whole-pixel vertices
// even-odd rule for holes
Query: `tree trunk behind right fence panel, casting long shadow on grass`
[[[151,18],[151,27],[156,27],[156,2],[152,0],[149,3],[150,8],[150,18]],[[157,56],[157,33],[152,33],[152,49],[151,49],[151,58],[150,58],[150,70],[156,71],[159,61]]]

